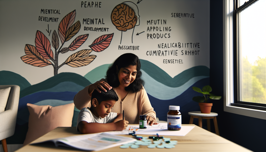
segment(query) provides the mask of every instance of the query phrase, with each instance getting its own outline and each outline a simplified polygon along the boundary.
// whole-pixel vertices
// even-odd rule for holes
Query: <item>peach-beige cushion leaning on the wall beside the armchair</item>
[[[27,104],[29,128],[23,146],[52,131],[57,127],[71,127],[74,113],[74,103],[60,106],[38,106]]]

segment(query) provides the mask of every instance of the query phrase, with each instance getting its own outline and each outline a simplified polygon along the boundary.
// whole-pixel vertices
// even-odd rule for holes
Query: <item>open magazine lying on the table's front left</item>
[[[134,142],[136,139],[130,137],[122,137],[107,133],[76,135],[65,138],[57,138],[48,141],[38,142],[53,142],[55,146],[65,146],[80,150],[99,151],[110,147],[123,145],[129,142]],[[37,143],[32,143],[37,144]]]

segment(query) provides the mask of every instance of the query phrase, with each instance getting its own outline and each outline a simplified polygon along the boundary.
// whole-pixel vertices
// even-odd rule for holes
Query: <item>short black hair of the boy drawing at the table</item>
[[[105,88],[106,89],[106,88]],[[107,90],[107,92],[103,91],[102,89],[99,88],[99,90],[101,91],[101,93],[99,93],[97,90],[94,90],[92,92],[92,98],[90,100],[90,104],[92,105],[92,99],[96,98],[98,103],[101,104],[102,101],[107,101],[107,100],[118,100],[118,96],[115,93],[115,91],[113,89],[111,90]]]

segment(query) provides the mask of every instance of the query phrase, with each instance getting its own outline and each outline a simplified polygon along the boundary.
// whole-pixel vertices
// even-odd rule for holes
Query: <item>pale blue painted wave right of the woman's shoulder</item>
[[[142,78],[145,81],[144,88],[149,95],[161,99],[161,100],[169,100],[173,99],[179,95],[181,95],[184,91],[186,91],[189,87],[191,87],[197,81],[207,78],[208,76],[196,76],[187,81],[185,84],[180,87],[168,87],[155,79],[149,76],[145,71],[142,71]]]

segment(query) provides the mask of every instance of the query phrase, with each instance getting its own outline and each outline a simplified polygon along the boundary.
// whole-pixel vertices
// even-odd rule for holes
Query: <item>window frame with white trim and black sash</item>
[[[244,116],[260,118],[266,120],[265,107],[261,104],[237,101],[237,64],[238,63],[238,43],[236,39],[236,11],[242,11],[250,6],[251,3],[255,3],[257,0],[250,0],[244,3],[239,8],[237,6],[237,0],[223,0],[223,67],[224,67],[224,111],[240,114]],[[234,70],[236,69],[236,70]],[[262,104],[264,105],[264,104]]]

